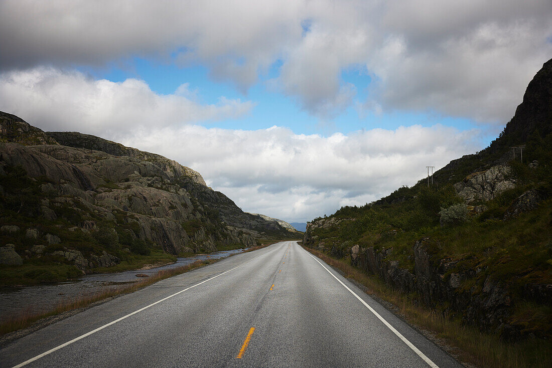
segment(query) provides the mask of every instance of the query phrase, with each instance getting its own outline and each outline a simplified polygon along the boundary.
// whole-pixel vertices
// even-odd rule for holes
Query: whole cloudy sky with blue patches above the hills
[[[0,110],[289,222],[481,150],[551,57],[550,0],[0,0]]]

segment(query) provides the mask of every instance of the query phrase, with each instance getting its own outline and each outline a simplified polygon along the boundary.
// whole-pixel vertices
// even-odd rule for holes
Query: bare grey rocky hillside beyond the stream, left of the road
[[[77,132],[45,133],[7,113],[0,124],[0,264],[88,273],[151,252],[293,236],[158,154]]]

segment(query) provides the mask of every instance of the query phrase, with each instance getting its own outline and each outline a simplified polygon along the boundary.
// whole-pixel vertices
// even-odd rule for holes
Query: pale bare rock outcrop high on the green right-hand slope
[[[468,175],[460,183],[454,184],[458,195],[466,202],[474,200],[489,201],[507,189],[514,188],[515,183],[507,179],[509,168],[493,166],[489,170]]]

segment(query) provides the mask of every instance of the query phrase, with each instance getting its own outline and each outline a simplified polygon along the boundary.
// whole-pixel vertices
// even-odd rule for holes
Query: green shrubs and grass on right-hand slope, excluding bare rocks
[[[514,145],[506,143],[505,147]],[[552,135],[534,135],[525,145],[524,162],[519,157],[508,162],[507,179],[515,185],[492,200],[476,198],[466,204],[452,183],[481,167],[481,157],[496,159],[505,151],[460,161],[457,167],[438,172],[440,179],[431,188],[423,179],[371,204],[342,207],[331,216],[316,218],[305,245],[392,302],[413,323],[464,350],[466,361],[482,367],[551,366],[552,300],[546,287],[552,285]],[[539,200],[528,210],[513,211],[521,195],[529,192]],[[452,274],[462,276],[453,291],[456,295],[477,298],[487,282],[506,290],[503,325],[477,326],[485,315],[478,316],[477,323],[473,319],[466,323],[463,312],[451,302],[428,303],[428,296],[417,291],[401,294],[369,275],[366,264],[352,262],[352,248],[358,245],[361,253],[373,249],[388,265],[394,262],[398,269],[416,275],[417,242],[423,242],[428,262],[447,265],[440,275],[443,280]],[[502,334],[506,325],[516,332]]]

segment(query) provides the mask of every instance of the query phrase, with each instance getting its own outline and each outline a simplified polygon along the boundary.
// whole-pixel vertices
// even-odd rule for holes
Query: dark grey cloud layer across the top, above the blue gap
[[[0,2],[4,71],[156,57],[245,91],[280,60],[280,90],[325,118],[355,104],[504,124],[551,36],[550,0]],[[351,66],[378,81],[368,101],[341,79]]]

